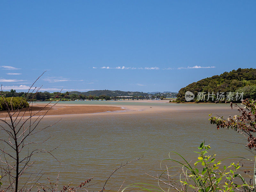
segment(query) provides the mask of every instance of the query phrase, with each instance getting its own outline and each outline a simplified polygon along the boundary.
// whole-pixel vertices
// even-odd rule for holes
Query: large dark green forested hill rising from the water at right
[[[207,77],[200,81],[191,83],[181,88],[178,95],[178,102],[185,101],[185,93],[192,92],[197,98],[198,92],[244,92],[243,98],[256,99],[256,69],[238,68],[230,72],[224,72],[221,75]],[[192,100],[192,101],[195,101]]]

